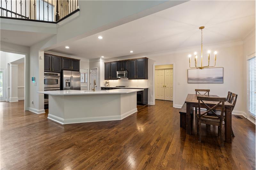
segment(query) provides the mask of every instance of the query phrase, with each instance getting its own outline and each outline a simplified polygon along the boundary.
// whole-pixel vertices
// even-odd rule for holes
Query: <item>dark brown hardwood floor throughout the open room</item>
[[[220,148],[217,128],[198,143],[170,101],[138,106],[121,121],[61,125],[0,102],[1,169],[255,169],[255,125],[232,116],[236,135]]]

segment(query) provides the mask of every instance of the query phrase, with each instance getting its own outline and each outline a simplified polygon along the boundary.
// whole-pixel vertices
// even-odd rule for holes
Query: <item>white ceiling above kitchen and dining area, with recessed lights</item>
[[[255,1],[189,1],[50,51],[91,59],[198,46],[199,26],[204,44],[242,40],[255,28]]]

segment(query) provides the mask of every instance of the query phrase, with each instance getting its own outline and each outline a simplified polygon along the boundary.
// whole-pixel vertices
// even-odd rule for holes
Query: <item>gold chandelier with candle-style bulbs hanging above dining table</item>
[[[217,55],[217,51],[214,52],[214,66],[209,66],[210,65],[210,53],[211,51],[208,50],[208,65],[206,66],[203,66],[203,29],[204,29],[204,26],[200,26],[199,29],[201,30],[201,67],[197,67],[197,55],[196,55],[196,52],[194,53],[195,54],[195,67],[190,67],[190,57],[191,55],[189,54],[188,57],[189,57],[189,68],[191,69],[204,69],[204,68],[208,68],[208,67],[215,67],[216,65],[216,55]]]

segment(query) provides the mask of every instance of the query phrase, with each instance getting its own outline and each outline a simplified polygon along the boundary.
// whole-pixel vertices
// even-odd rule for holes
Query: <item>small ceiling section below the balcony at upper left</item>
[[[28,47],[53,35],[50,33],[35,33],[2,29],[0,33],[1,41]]]

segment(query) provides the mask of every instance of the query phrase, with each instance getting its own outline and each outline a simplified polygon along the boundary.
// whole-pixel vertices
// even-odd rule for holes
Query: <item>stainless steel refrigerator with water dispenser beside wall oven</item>
[[[81,90],[79,71],[61,71],[61,90]]]

